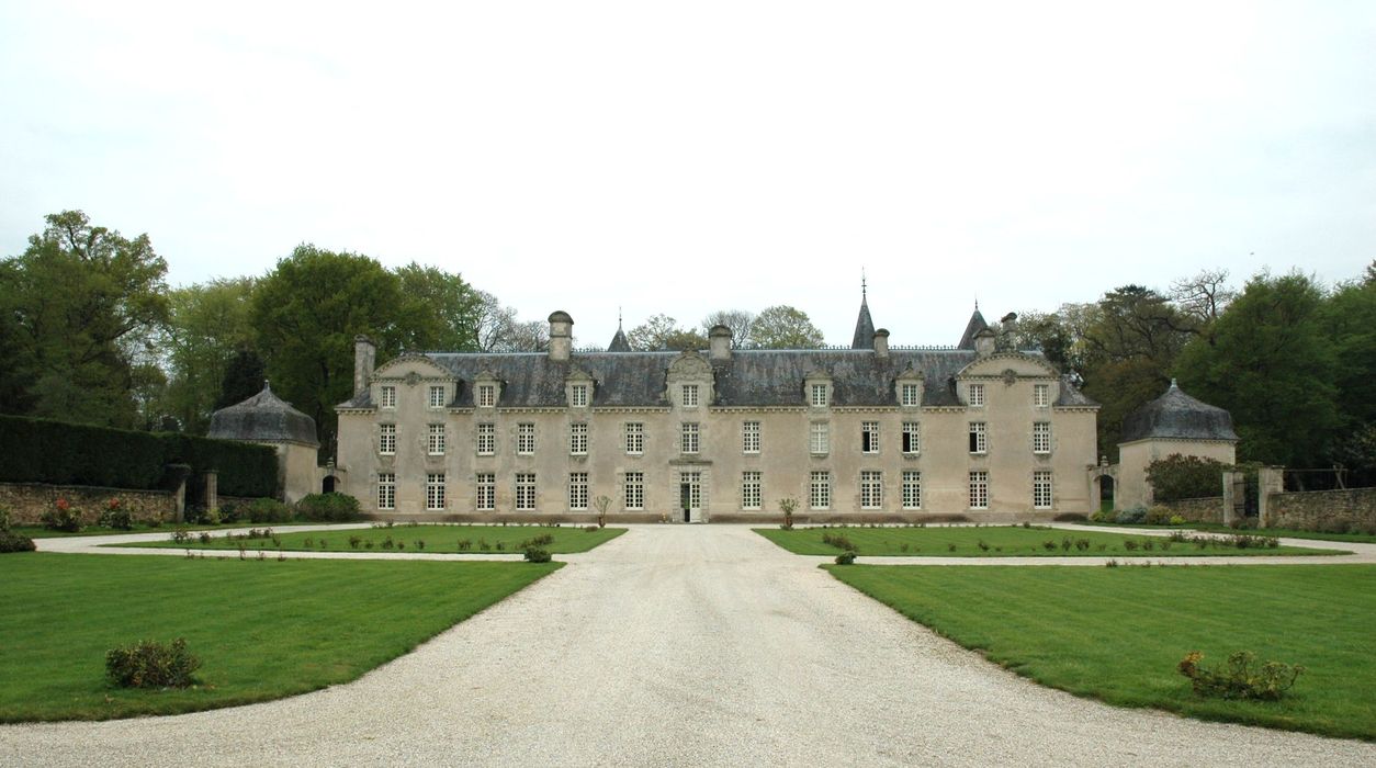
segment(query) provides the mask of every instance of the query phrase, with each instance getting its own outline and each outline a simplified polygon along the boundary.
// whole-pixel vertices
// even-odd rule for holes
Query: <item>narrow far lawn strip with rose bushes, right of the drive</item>
[[[1219,542],[1198,546],[1171,542],[1160,535],[1130,535],[1076,531],[1032,526],[930,526],[930,527],[827,527],[827,529],[754,529],[755,533],[794,555],[838,555],[841,548],[823,541],[824,535],[850,540],[860,556],[915,557],[1193,557],[1204,555],[1337,555],[1331,549],[1277,546],[1238,549]],[[1069,549],[1064,548],[1069,540]],[[1076,541],[1087,541],[1080,549]],[[1128,549],[1127,541],[1137,545]],[[980,546],[984,542],[985,548]],[[1051,542],[1053,549],[1046,544]],[[1146,549],[1146,546],[1150,549]]]

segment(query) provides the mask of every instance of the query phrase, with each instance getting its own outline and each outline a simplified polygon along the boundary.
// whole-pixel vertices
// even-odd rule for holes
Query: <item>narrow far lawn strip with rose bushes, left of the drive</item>
[[[270,526],[259,526],[259,530]],[[443,524],[400,524],[391,527],[367,529],[334,529],[323,531],[277,531],[277,540],[234,538],[231,534],[212,535],[209,542],[201,542],[193,537],[187,544],[178,544],[169,540],[121,544],[118,546],[155,546],[172,549],[230,549],[238,551],[244,545],[249,552],[259,549],[275,552],[278,548],[296,552],[433,552],[433,553],[468,553],[468,555],[497,555],[524,552],[522,546],[535,537],[552,535],[555,541],[541,545],[546,552],[561,555],[568,552],[588,552],[589,549],[605,544],[626,529],[594,529],[588,530],[578,526],[443,526]],[[168,534],[171,538],[171,533]],[[355,546],[356,540],[356,546]],[[468,548],[461,548],[460,542],[469,542]],[[278,544],[281,542],[281,544]],[[388,544],[391,542],[391,544]],[[372,545],[372,546],[369,546]],[[484,548],[486,545],[486,548]]]

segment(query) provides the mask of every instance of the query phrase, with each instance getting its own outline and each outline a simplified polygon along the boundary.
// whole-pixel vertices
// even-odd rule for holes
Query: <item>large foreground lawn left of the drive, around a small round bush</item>
[[[173,714],[347,683],[559,567],[0,555],[0,721]],[[202,685],[106,683],[107,650],[175,637],[204,662]]]

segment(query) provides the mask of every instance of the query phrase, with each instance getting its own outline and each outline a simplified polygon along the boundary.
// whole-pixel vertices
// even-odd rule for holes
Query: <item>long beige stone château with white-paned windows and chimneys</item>
[[[866,312],[867,319],[868,312]],[[1051,519],[1090,511],[1098,406],[1039,354],[977,348],[355,355],[341,490],[378,516]],[[974,425],[980,436],[976,446]],[[904,434],[911,432],[905,439]],[[981,473],[974,478],[974,473]],[[755,490],[758,483],[758,491]],[[976,490],[974,486],[981,490]],[[442,498],[440,498],[442,495]]]

